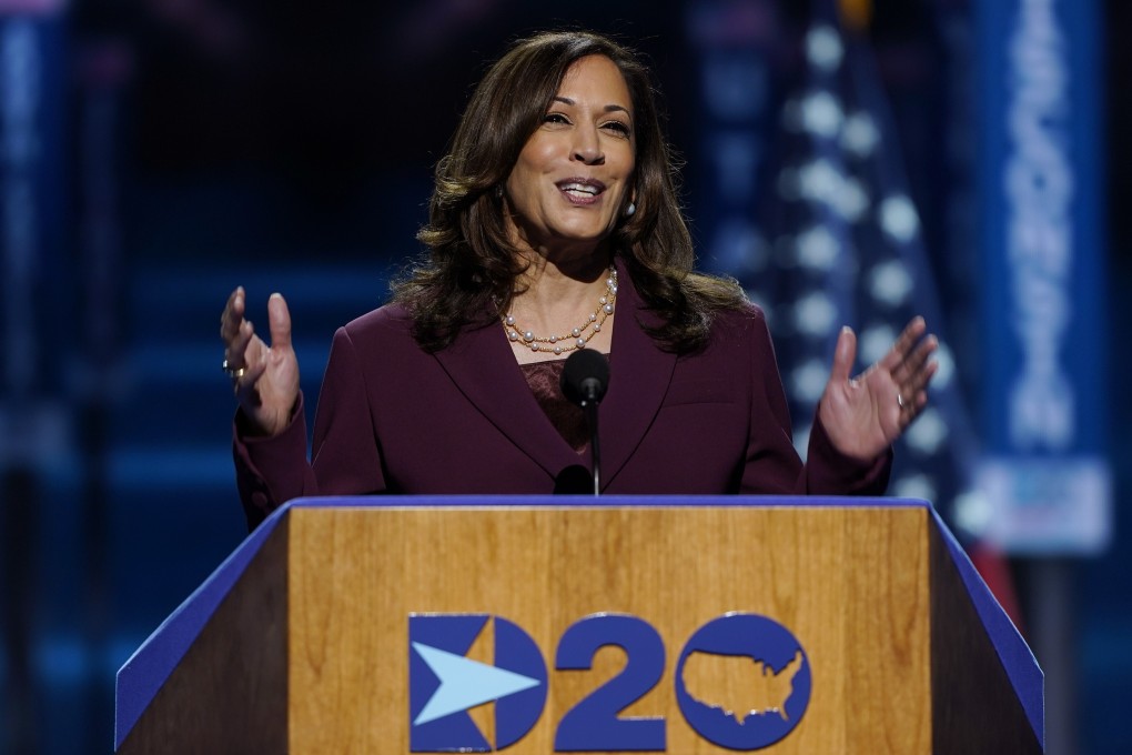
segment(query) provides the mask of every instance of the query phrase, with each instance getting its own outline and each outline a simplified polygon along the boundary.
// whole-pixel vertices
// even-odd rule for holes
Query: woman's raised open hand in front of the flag
[[[940,345],[934,335],[924,335],[926,331],[924,318],[915,318],[889,353],[851,377],[857,336],[842,328],[818,409],[825,434],[842,454],[876,458],[923,411],[927,384],[938,368],[929,358]]]

